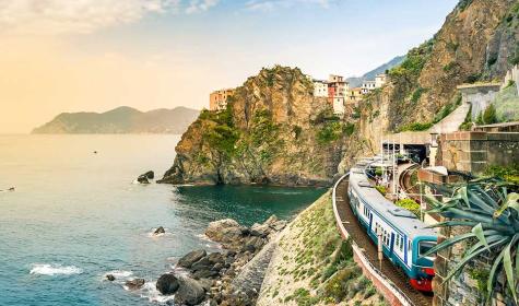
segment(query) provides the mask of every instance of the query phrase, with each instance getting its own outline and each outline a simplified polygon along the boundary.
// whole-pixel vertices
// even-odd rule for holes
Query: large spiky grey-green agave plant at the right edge
[[[511,192],[517,186],[497,178],[485,178],[463,185],[434,187],[450,197],[447,202],[427,197],[433,207],[429,212],[439,213],[448,219],[434,227],[470,226],[472,231],[450,237],[432,248],[427,255],[468,239],[475,242],[464,252],[461,261],[449,271],[445,282],[460,273],[465,264],[477,256],[485,252],[495,254],[497,257],[486,284],[487,296],[488,298],[492,296],[496,278],[504,271],[506,283],[518,304],[516,289],[519,276],[519,195]]]

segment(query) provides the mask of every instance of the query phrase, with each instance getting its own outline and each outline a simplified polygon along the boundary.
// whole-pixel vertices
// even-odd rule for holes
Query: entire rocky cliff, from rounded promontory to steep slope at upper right
[[[502,79],[519,62],[516,0],[462,0],[440,31],[389,70],[389,82],[339,119],[298,70],[263,69],[220,114],[204,111],[177,145],[164,183],[328,185],[388,132],[426,130],[460,103],[462,83]]]

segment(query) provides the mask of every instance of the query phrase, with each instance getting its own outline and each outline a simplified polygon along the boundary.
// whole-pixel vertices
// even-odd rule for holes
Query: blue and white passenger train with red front
[[[350,205],[369,238],[378,246],[381,236],[384,256],[408,275],[412,287],[432,292],[435,257],[424,255],[436,246],[437,231],[386,199],[364,168],[352,168],[349,179]]]

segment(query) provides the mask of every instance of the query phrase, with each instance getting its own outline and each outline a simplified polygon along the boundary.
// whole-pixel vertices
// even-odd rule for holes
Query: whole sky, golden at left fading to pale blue
[[[0,0],[0,133],[63,111],[208,107],[263,67],[361,75],[456,0]]]

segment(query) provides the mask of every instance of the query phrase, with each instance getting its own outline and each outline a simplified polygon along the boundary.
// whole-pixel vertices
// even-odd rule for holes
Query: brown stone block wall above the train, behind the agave
[[[487,166],[519,161],[517,132],[453,132],[440,136],[441,165],[451,170],[483,174]]]

